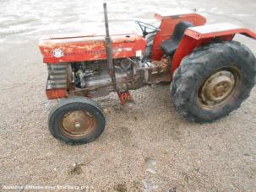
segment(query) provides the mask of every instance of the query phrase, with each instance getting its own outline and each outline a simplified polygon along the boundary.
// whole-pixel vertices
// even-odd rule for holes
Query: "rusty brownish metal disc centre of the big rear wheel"
[[[240,87],[237,69],[222,69],[208,77],[199,89],[199,103],[205,109],[217,109],[227,104]]]

